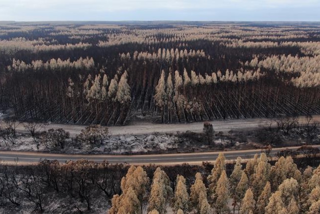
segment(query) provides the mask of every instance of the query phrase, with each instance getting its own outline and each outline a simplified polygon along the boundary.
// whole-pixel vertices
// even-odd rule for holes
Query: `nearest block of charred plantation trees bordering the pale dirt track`
[[[83,65],[89,71],[90,66],[87,67]],[[270,83],[259,70],[237,73],[227,70],[224,75],[218,71],[205,76],[194,71],[189,75],[186,69],[181,75],[178,71],[169,72],[162,72],[157,85],[155,78],[146,72],[146,76],[137,74],[133,82],[134,75],[121,69],[111,80],[106,72],[95,77],[79,75],[60,82],[58,88],[55,81],[48,80],[45,84],[32,80],[32,86],[26,87],[25,82],[15,86],[11,93],[2,87],[1,101],[13,102],[17,117],[23,120],[102,125],[124,124],[129,111],[136,110],[142,115],[158,112],[162,122],[320,112],[318,88],[298,88],[279,81]]]

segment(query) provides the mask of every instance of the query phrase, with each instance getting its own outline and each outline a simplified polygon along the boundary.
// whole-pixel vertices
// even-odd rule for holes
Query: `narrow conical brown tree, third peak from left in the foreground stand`
[[[185,186],[185,179],[182,175],[178,175],[174,197],[174,210],[186,212],[188,209],[188,201],[189,195]]]

